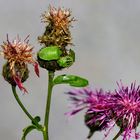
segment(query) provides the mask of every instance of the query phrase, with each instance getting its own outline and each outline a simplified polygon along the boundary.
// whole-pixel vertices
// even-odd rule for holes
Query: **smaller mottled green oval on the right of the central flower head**
[[[59,64],[60,67],[70,67],[73,64],[74,60],[71,56],[65,56],[61,57],[57,63]]]

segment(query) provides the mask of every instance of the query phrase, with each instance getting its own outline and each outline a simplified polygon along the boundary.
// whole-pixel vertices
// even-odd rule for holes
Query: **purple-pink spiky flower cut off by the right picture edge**
[[[132,83],[130,87],[118,83],[119,89],[112,96],[112,106],[116,124],[120,127],[124,140],[140,138],[134,132],[140,122],[140,86]]]

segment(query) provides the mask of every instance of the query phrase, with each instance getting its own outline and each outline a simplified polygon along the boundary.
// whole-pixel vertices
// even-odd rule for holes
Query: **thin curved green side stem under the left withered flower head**
[[[23,112],[28,116],[28,118],[38,127],[41,128],[41,125],[39,125],[34,118],[31,116],[31,114],[27,111],[27,109],[24,107],[24,105],[22,104],[22,102],[20,101],[17,92],[16,92],[16,86],[12,86],[12,91],[13,91],[13,95],[17,101],[17,103],[19,104],[19,106],[21,107],[21,109],[23,110]]]

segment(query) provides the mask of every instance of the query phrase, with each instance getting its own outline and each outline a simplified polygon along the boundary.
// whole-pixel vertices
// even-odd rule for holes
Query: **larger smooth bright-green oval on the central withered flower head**
[[[38,56],[42,60],[50,61],[50,60],[58,60],[61,54],[62,51],[58,46],[49,46],[42,48],[39,51]]]

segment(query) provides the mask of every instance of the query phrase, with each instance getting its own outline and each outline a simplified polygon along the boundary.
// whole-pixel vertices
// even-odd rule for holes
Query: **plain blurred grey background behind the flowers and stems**
[[[140,84],[140,0],[0,0],[0,44],[6,34],[14,39],[17,34],[40,49],[37,36],[44,32],[40,15],[49,4],[70,8],[77,22],[71,29],[75,64],[56,74],[77,74],[89,79],[93,88],[105,90],[117,88],[120,79],[125,84]],[[1,57],[0,67],[4,60]],[[40,78],[30,66],[30,78],[24,85],[29,94],[19,90],[19,96],[33,115],[44,116],[47,93],[47,73],[40,68]],[[0,76],[0,140],[20,140],[22,129],[30,121],[11,93],[10,85]],[[72,119],[64,115],[68,111],[69,86],[55,87],[52,97],[49,134],[50,140],[85,140],[88,129],[83,122],[84,111]],[[115,127],[107,140],[111,140]],[[92,139],[102,140],[104,133],[97,132]],[[121,140],[122,138],[119,138]],[[27,140],[42,140],[42,134],[33,131]]]

